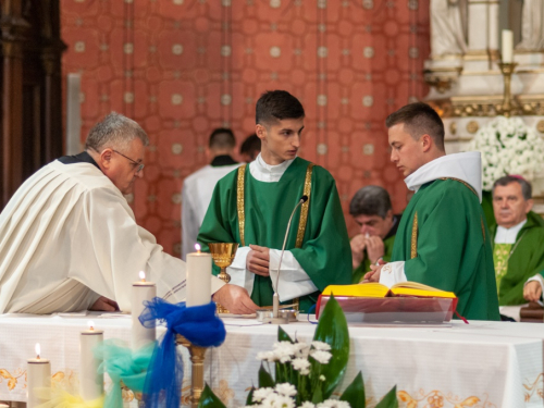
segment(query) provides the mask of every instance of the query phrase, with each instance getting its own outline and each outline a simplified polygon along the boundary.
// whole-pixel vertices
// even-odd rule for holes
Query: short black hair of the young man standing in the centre
[[[305,109],[293,95],[286,90],[267,90],[257,101],[255,122],[264,125],[304,116]]]

